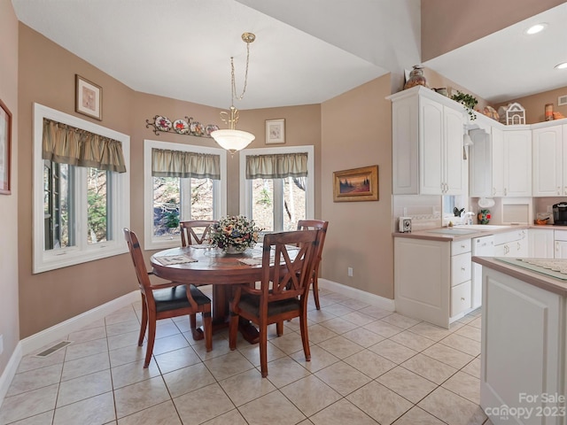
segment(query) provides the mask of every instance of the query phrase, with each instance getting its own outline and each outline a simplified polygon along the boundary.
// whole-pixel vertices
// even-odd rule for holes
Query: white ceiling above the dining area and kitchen
[[[420,63],[419,0],[12,0],[18,19],[136,91],[239,109],[319,104]],[[528,39],[528,22],[548,30]],[[491,102],[567,85],[567,4],[423,65]],[[563,41],[558,46],[557,41]],[[537,60],[534,60],[537,58]],[[89,75],[83,75],[89,79]],[[97,81],[94,81],[97,82]]]

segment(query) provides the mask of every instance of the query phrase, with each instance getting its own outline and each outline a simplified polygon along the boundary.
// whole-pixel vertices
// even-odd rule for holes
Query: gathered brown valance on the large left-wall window
[[[126,173],[122,143],[58,121],[43,119],[42,158],[71,166]]]

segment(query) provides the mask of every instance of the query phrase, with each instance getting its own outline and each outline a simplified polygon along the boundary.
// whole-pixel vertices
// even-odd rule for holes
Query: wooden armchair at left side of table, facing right
[[[193,285],[184,285],[179,282],[152,284],[150,281],[152,273],[145,268],[144,256],[136,233],[128,228],[124,228],[123,232],[136,269],[138,285],[142,292],[142,322],[138,346],[142,346],[144,343],[145,330],[148,328],[148,346],[145,351],[144,367],[150,365],[151,352],[153,352],[156,337],[156,322],[161,319],[188,314],[194,320],[195,315],[201,313],[203,315],[203,328],[205,328],[206,351],[213,350],[211,299]],[[191,330],[194,329],[191,328]]]

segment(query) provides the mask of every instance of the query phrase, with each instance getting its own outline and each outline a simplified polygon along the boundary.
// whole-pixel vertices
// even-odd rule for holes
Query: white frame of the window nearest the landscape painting
[[[313,145],[290,146],[277,148],[257,148],[244,149],[240,151],[240,213],[246,217],[252,217],[252,181],[246,179],[246,157],[249,155],[275,155],[286,153],[307,152],[307,186],[306,186],[306,220],[315,218],[315,149]],[[276,189],[274,185],[274,228],[276,222],[283,222],[283,205],[281,205],[281,197],[276,199],[276,194],[281,195],[282,189]],[[276,208],[277,206],[277,208]],[[281,231],[281,230],[275,230]],[[268,232],[266,232],[268,233]]]

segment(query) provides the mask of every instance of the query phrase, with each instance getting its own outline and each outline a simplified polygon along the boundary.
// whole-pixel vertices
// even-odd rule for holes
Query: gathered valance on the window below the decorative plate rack
[[[151,150],[151,175],[221,180],[221,156],[154,148]]]

